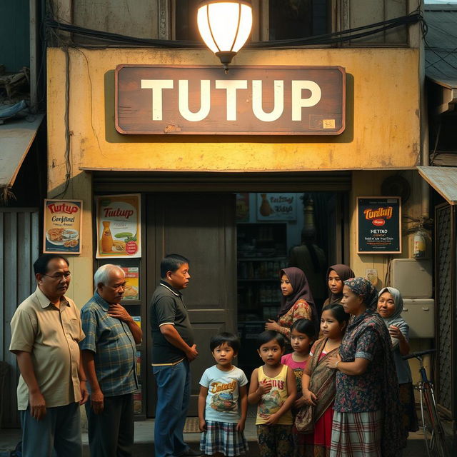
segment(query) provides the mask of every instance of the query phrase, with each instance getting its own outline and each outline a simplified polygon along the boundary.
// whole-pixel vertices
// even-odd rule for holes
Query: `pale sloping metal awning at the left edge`
[[[11,187],[33,143],[44,114],[0,125],[0,188]]]

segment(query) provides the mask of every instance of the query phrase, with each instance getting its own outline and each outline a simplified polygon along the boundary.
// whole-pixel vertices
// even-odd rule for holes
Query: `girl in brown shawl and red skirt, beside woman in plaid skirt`
[[[328,366],[328,360],[339,351],[349,317],[339,303],[331,303],[322,311],[323,338],[314,343],[302,379],[303,403],[305,403],[303,408],[313,408],[314,429],[311,433],[294,435],[295,457],[330,455],[336,371]]]

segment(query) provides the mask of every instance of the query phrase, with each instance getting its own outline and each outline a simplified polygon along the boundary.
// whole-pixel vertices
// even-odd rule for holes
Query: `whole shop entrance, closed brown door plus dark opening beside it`
[[[281,268],[303,268],[321,306],[326,268],[341,261],[340,216],[341,195],[329,192],[146,196],[148,296],[166,253],[191,259],[191,286],[184,295],[199,357],[192,363],[189,416],[197,414],[201,373],[214,363],[211,336],[238,332],[238,366],[246,376],[258,366],[256,335],[268,318],[276,318]],[[150,360],[149,316],[146,322]],[[146,386],[153,384],[149,373]],[[155,394],[147,398],[146,416],[154,416]]]

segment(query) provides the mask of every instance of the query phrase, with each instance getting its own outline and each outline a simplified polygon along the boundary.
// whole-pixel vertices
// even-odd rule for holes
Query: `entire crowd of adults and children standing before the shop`
[[[91,456],[132,456],[142,332],[120,304],[124,270],[101,266],[94,296],[79,311],[65,295],[66,258],[44,254],[34,269],[36,291],[11,320],[23,456],[81,457],[81,404]],[[187,258],[166,256],[149,308],[156,457],[248,455],[248,404],[256,405],[262,457],[401,455],[408,432],[418,429],[411,371],[401,357],[409,351],[401,293],[378,292],[345,265],[328,268],[321,313],[303,271],[280,271],[278,318],[258,335],[262,364],[250,381],[233,365],[242,351],[238,337],[211,338],[215,364],[199,381],[200,451],[189,448],[190,363],[199,355],[181,293],[190,278]]]

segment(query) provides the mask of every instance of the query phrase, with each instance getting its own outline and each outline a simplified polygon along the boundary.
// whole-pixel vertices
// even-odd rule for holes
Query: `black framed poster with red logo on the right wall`
[[[356,197],[357,204],[356,204],[356,217],[357,217],[357,229],[356,229],[356,240],[357,240],[357,253],[358,254],[401,254],[401,197],[399,196],[358,196]],[[365,200],[373,201],[371,204],[365,202]],[[376,215],[376,211],[382,209],[382,205],[385,206],[386,214],[388,214],[389,208],[391,208],[391,215]],[[389,206],[387,206],[389,205]],[[370,208],[373,206],[373,208]],[[374,211],[373,216],[367,213],[364,215],[365,211],[368,210]],[[392,220],[391,220],[392,219]],[[373,221],[378,220],[380,225],[374,224]],[[368,222],[367,222],[368,221]],[[380,235],[386,235],[389,230],[392,231],[391,237],[388,240],[385,240],[386,237],[381,238],[381,242],[391,243],[386,244],[386,249],[383,250],[381,248],[382,245],[375,245],[376,242],[374,239],[370,240],[373,245],[370,245],[370,241],[363,241],[366,239],[366,234],[368,229],[371,229],[371,224],[374,227],[379,227],[378,230],[386,230],[386,233],[379,233]],[[381,222],[383,221],[383,222]],[[363,227],[365,224],[365,227]],[[382,229],[381,229],[382,227]],[[378,235],[378,233],[376,233]],[[376,237],[374,237],[376,238]],[[390,239],[391,238],[391,239]],[[378,246],[378,248],[375,248]],[[394,246],[394,248],[389,248],[389,246]],[[395,248],[398,246],[398,248]]]

